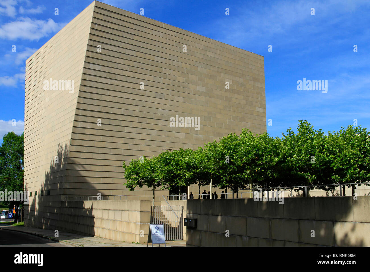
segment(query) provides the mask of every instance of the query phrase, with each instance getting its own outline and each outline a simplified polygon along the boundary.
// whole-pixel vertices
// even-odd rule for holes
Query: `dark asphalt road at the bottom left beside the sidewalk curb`
[[[18,231],[0,229],[0,246],[67,246]]]

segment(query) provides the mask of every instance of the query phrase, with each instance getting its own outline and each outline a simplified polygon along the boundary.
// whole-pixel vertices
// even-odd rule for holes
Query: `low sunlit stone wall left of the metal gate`
[[[115,241],[147,242],[151,201],[60,201],[60,220],[44,228],[99,236]],[[33,222],[25,219],[25,226]],[[140,236],[140,231],[144,236]]]

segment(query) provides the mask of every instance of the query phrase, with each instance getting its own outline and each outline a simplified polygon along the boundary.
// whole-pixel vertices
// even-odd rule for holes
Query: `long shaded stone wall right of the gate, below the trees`
[[[370,246],[370,197],[192,199],[187,246]],[[226,237],[226,231],[229,237]],[[312,236],[314,231],[314,237]]]

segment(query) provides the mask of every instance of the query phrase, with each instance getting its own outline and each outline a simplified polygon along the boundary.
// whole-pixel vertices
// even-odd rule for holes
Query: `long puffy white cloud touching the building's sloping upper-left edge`
[[[59,31],[64,25],[64,23],[55,23],[53,19],[32,20],[28,17],[21,17],[17,21],[1,26],[0,38],[39,40]]]

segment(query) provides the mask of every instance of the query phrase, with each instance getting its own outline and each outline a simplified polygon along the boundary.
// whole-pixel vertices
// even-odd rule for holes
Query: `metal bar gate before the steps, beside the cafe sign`
[[[183,240],[184,206],[152,206],[150,223],[163,224],[166,241]]]

